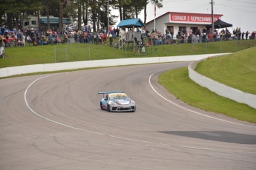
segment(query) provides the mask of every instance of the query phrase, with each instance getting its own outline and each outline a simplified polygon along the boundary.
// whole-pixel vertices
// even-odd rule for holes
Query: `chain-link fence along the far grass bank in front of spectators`
[[[114,38],[112,44],[109,38],[105,43],[90,41],[88,43],[67,39],[65,46],[56,44],[55,62],[91,61],[112,58],[141,58],[154,56],[200,55],[213,53],[237,52],[256,47],[256,40],[214,41],[202,43],[188,43],[174,40],[159,42],[152,38],[141,41],[125,42],[119,48],[119,37]]]

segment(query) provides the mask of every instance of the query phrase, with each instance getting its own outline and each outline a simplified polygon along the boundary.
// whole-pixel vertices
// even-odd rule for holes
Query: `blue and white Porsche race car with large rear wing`
[[[98,92],[103,94],[100,100],[100,109],[108,112],[135,112],[135,101],[131,100],[123,91]],[[104,95],[107,94],[105,97]]]

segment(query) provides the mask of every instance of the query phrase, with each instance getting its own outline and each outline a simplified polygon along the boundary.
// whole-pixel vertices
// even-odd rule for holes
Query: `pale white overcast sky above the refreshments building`
[[[157,16],[167,12],[209,13],[211,0],[163,0],[163,8],[157,8]],[[147,22],[154,19],[154,4],[147,6]],[[118,15],[117,12],[112,12]],[[214,0],[214,13],[223,14],[222,21],[233,24],[229,31],[240,27],[241,31],[256,31],[256,0]],[[139,18],[144,21],[144,10]],[[116,25],[119,23],[117,21]]]

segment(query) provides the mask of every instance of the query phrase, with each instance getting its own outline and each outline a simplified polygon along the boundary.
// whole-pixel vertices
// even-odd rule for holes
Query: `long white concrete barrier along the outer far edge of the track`
[[[211,56],[220,54],[211,54]],[[164,62],[176,62],[176,61],[197,61],[206,58],[209,55],[183,55],[174,57],[152,57],[152,58],[119,58],[119,59],[106,59],[106,60],[94,60],[94,61],[75,61],[65,63],[53,63],[53,64],[36,64],[19,67],[7,67],[0,69],[0,77],[7,77],[11,75],[21,75],[32,72],[53,72],[64,69],[81,69],[89,67],[111,67],[111,66],[123,66],[130,64],[153,64]]]

